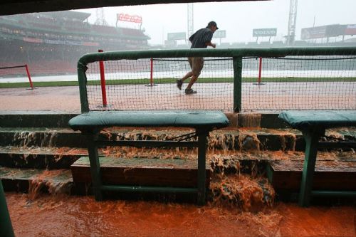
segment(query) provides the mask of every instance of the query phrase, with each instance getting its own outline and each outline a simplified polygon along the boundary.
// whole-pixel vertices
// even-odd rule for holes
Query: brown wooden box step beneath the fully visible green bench
[[[123,159],[100,157],[103,184],[197,187],[197,160],[187,159]],[[73,181],[91,182],[88,157],[80,157],[70,167]],[[206,164],[206,186],[211,170]]]

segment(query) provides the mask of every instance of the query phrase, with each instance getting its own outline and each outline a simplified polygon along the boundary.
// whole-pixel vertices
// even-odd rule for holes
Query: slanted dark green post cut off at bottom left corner
[[[4,189],[0,180],[0,236],[15,236],[7,209]]]

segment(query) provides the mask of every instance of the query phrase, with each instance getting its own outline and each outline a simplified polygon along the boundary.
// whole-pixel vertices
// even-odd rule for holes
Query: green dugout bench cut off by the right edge
[[[328,128],[356,126],[356,111],[286,111],[282,112],[278,117],[287,122],[294,129],[303,132],[305,139],[305,160],[300,184],[299,205],[309,206],[310,196],[356,196],[356,190],[312,190],[318,147],[356,147],[356,142],[320,142],[320,137],[325,136],[325,129]]]

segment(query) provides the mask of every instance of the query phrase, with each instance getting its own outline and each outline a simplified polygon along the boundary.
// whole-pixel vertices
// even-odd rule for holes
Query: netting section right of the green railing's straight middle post
[[[243,62],[243,110],[355,110],[355,56],[289,56]]]

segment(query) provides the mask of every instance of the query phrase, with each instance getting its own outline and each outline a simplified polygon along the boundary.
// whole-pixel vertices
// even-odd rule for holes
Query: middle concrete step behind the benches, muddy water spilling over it
[[[101,157],[150,158],[150,159],[197,159],[196,149],[141,149],[135,147],[105,147],[99,149]],[[33,169],[70,169],[80,157],[88,156],[85,148],[73,147],[0,147],[0,166]],[[263,172],[266,164],[274,160],[304,160],[299,151],[234,151],[208,149],[207,163],[216,173]],[[356,162],[355,152],[318,152],[324,161]],[[253,171],[252,171],[253,172]]]

